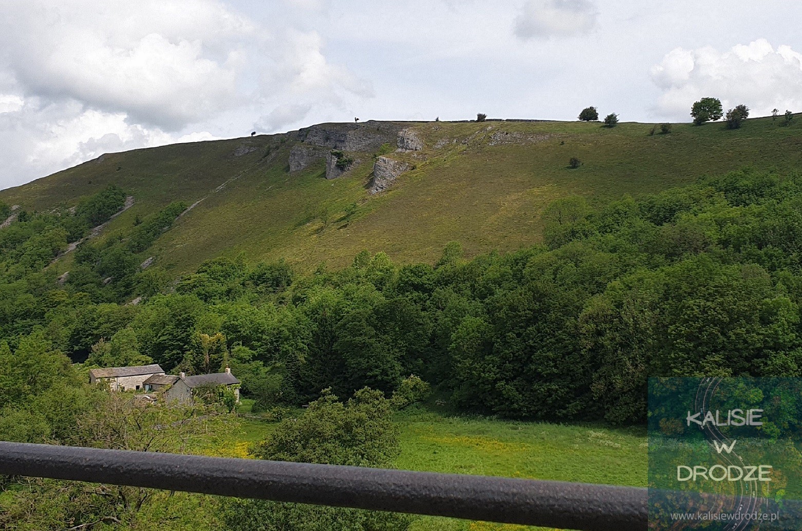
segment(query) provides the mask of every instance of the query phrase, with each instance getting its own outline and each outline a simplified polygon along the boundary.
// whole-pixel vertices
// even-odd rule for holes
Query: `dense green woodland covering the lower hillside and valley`
[[[82,243],[66,279],[48,264],[118,211],[125,191],[23,211],[0,230],[0,439],[102,444],[86,430],[108,431],[97,412],[124,406],[89,388],[86,371],[146,362],[173,373],[228,364],[254,411],[311,401],[313,415],[353,408],[364,420],[371,413],[359,404],[371,404],[390,453],[382,412],[427,384],[465,412],[642,424],[647,376],[802,376],[800,192],[800,175],[745,169],[602,207],[559,199],[543,214],[545,243],[507,254],[466,259],[450,243],[434,265],[400,265],[366,251],[348,268],[305,275],[239,255],[177,280],[140,262],[183,204]],[[0,205],[0,217],[9,213]],[[363,455],[331,445],[300,456],[290,444],[298,432],[286,429],[258,455]],[[172,443],[165,448],[186,450]],[[388,461],[364,456],[354,464]],[[238,503],[226,509],[233,529],[253,529],[267,511]],[[268,512],[304,521],[304,510]],[[326,521],[336,519],[326,511],[345,509],[314,510]],[[405,525],[350,514],[363,524],[348,529]],[[294,529],[275,525],[265,529]]]

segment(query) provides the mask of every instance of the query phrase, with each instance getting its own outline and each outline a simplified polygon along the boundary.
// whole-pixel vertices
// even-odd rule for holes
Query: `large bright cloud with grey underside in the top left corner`
[[[26,94],[170,131],[237,105],[237,51],[255,31],[212,0],[32,0],[3,20],[4,66]]]

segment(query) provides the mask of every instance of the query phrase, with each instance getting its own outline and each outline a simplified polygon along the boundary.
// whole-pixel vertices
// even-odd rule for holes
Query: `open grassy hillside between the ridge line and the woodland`
[[[110,233],[127,231],[136,215],[174,199],[194,203],[206,197],[150,252],[176,273],[240,251],[254,260],[283,256],[302,269],[323,260],[340,266],[363,248],[402,262],[434,261],[452,239],[469,255],[537,242],[542,208],[563,195],[605,201],[744,165],[798,170],[802,116],[794,122],[780,127],[780,120],[751,119],[737,131],[720,123],[675,124],[670,135],[649,135],[653,126],[642,123],[614,129],[598,123],[418,123],[412,127],[424,140],[423,151],[389,155],[416,169],[378,196],[365,190],[371,154],[360,155],[364,162],[348,174],[326,181],[322,162],[298,174],[287,172],[295,135],[263,135],[105,155],[100,162],[2,191],[0,199],[43,209],[74,204],[118,183],[135,195],[136,204],[111,223]],[[493,145],[491,135],[501,131],[536,140]],[[443,139],[456,143],[435,149]],[[234,156],[243,145],[257,149]],[[271,153],[263,157],[267,147]],[[572,156],[582,167],[566,167]],[[350,203],[358,203],[358,211],[342,219]],[[329,212],[327,227],[323,210]]]

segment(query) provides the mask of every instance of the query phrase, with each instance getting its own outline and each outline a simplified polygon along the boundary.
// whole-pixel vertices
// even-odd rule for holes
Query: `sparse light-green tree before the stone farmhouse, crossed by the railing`
[[[93,393],[91,407],[74,419],[63,442],[138,452],[200,453],[223,444],[224,425],[224,417],[213,408],[163,402],[142,407],[134,396],[100,391]],[[161,528],[174,525],[168,522],[176,509],[184,509],[173,493],[79,481],[31,479],[6,494],[0,528],[18,531]],[[192,517],[182,515],[182,519]]]

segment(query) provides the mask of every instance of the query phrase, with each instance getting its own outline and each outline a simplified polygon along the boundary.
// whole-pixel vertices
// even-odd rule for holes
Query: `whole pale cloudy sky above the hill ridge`
[[[0,188],[360,119],[802,111],[788,0],[0,0]]]

